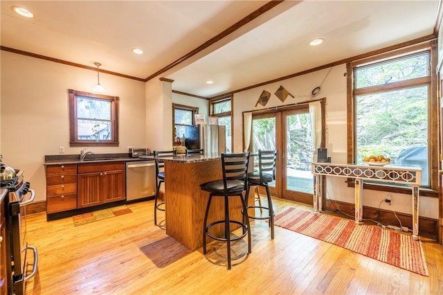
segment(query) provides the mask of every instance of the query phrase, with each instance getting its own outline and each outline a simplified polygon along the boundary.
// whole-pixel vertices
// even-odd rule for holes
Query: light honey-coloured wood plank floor
[[[226,247],[190,252],[154,226],[153,201],[128,206],[133,213],[77,227],[72,218],[29,215],[39,271],[26,294],[443,294],[443,247],[431,240],[422,239],[425,277],[278,226],[271,240],[260,220],[252,253],[246,240],[236,242],[228,271]],[[279,199],[274,206],[305,207]]]

